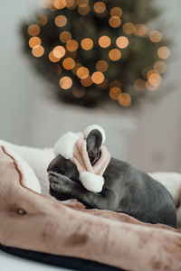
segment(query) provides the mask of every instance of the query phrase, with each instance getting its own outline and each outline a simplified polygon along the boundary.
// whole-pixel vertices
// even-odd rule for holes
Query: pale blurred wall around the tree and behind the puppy
[[[20,23],[37,10],[38,0],[1,2],[0,137],[20,145],[51,146],[59,135],[100,123],[108,131],[112,155],[145,171],[181,171],[180,160],[180,42],[181,2],[157,1],[164,8],[166,34],[173,40],[172,57],[153,103],[139,110],[86,110],[53,100],[47,81],[35,73],[24,55]],[[161,18],[162,20],[162,18]]]

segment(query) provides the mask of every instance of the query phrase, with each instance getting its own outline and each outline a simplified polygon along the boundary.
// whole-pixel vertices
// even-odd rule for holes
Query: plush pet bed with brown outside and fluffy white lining
[[[0,248],[77,270],[181,270],[181,229],[110,210],[85,210],[48,193],[52,149],[0,141]],[[181,214],[181,175],[152,173]]]

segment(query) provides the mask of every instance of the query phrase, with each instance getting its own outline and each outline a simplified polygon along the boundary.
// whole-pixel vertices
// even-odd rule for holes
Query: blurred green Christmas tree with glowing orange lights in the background
[[[159,12],[150,0],[49,0],[24,23],[25,51],[63,101],[123,106],[154,91],[170,51],[148,29]],[[146,25],[147,23],[147,25]]]

